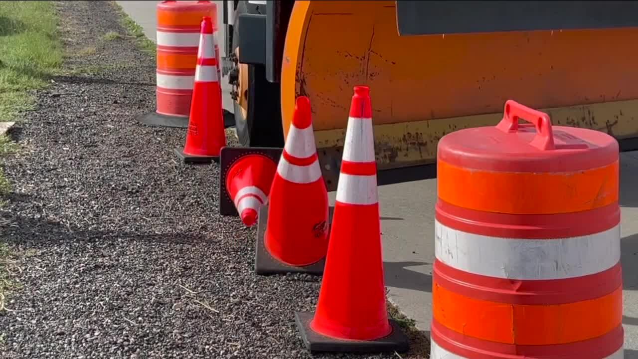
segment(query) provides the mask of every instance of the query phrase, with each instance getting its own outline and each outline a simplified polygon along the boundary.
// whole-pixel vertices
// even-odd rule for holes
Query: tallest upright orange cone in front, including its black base
[[[311,351],[407,351],[389,320],[369,89],[354,88],[316,312],[295,313]]]

